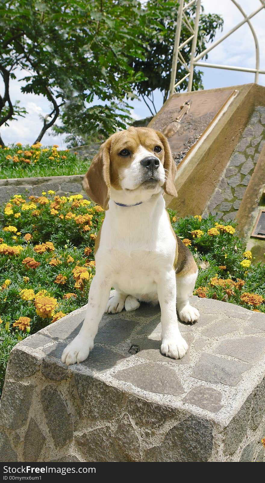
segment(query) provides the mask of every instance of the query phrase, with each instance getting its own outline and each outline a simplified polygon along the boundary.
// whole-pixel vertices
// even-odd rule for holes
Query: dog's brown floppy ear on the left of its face
[[[83,181],[84,190],[89,198],[104,210],[109,209],[108,203],[111,196],[110,149],[111,139],[109,138],[101,144],[98,154],[93,157]]]

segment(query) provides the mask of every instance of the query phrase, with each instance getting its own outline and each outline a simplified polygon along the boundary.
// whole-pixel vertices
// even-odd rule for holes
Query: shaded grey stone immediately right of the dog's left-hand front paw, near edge
[[[85,359],[81,365],[98,372],[105,372],[106,370],[117,366],[125,358],[125,355],[121,355],[105,347],[95,345],[88,358]]]

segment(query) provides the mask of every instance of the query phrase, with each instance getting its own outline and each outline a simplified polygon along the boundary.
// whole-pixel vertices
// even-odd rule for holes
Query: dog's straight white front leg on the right
[[[167,272],[166,276],[157,282],[157,295],[161,309],[161,352],[167,357],[181,359],[188,350],[188,344],[181,336],[178,326],[174,270]]]

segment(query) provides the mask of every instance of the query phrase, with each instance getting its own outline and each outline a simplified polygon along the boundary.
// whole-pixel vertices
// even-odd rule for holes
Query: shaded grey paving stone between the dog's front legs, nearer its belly
[[[95,342],[103,342],[105,344],[117,345],[128,339],[138,322],[136,320],[126,320],[116,315],[112,315],[113,319],[98,329]]]

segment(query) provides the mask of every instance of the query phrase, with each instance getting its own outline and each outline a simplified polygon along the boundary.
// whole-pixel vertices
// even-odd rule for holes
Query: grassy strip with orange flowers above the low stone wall
[[[45,151],[46,149],[47,151]],[[25,155],[25,151],[30,152],[31,155]],[[55,153],[56,156],[53,156]],[[7,156],[11,156],[11,159],[6,159]],[[49,157],[54,157],[54,159],[49,159]],[[14,159],[17,158],[18,161],[15,162]],[[53,152],[52,147],[32,148],[28,145],[12,144],[0,148],[0,179],[84,174],[90,162],[91,159],[82,159],[69,150],[54,149]]]

